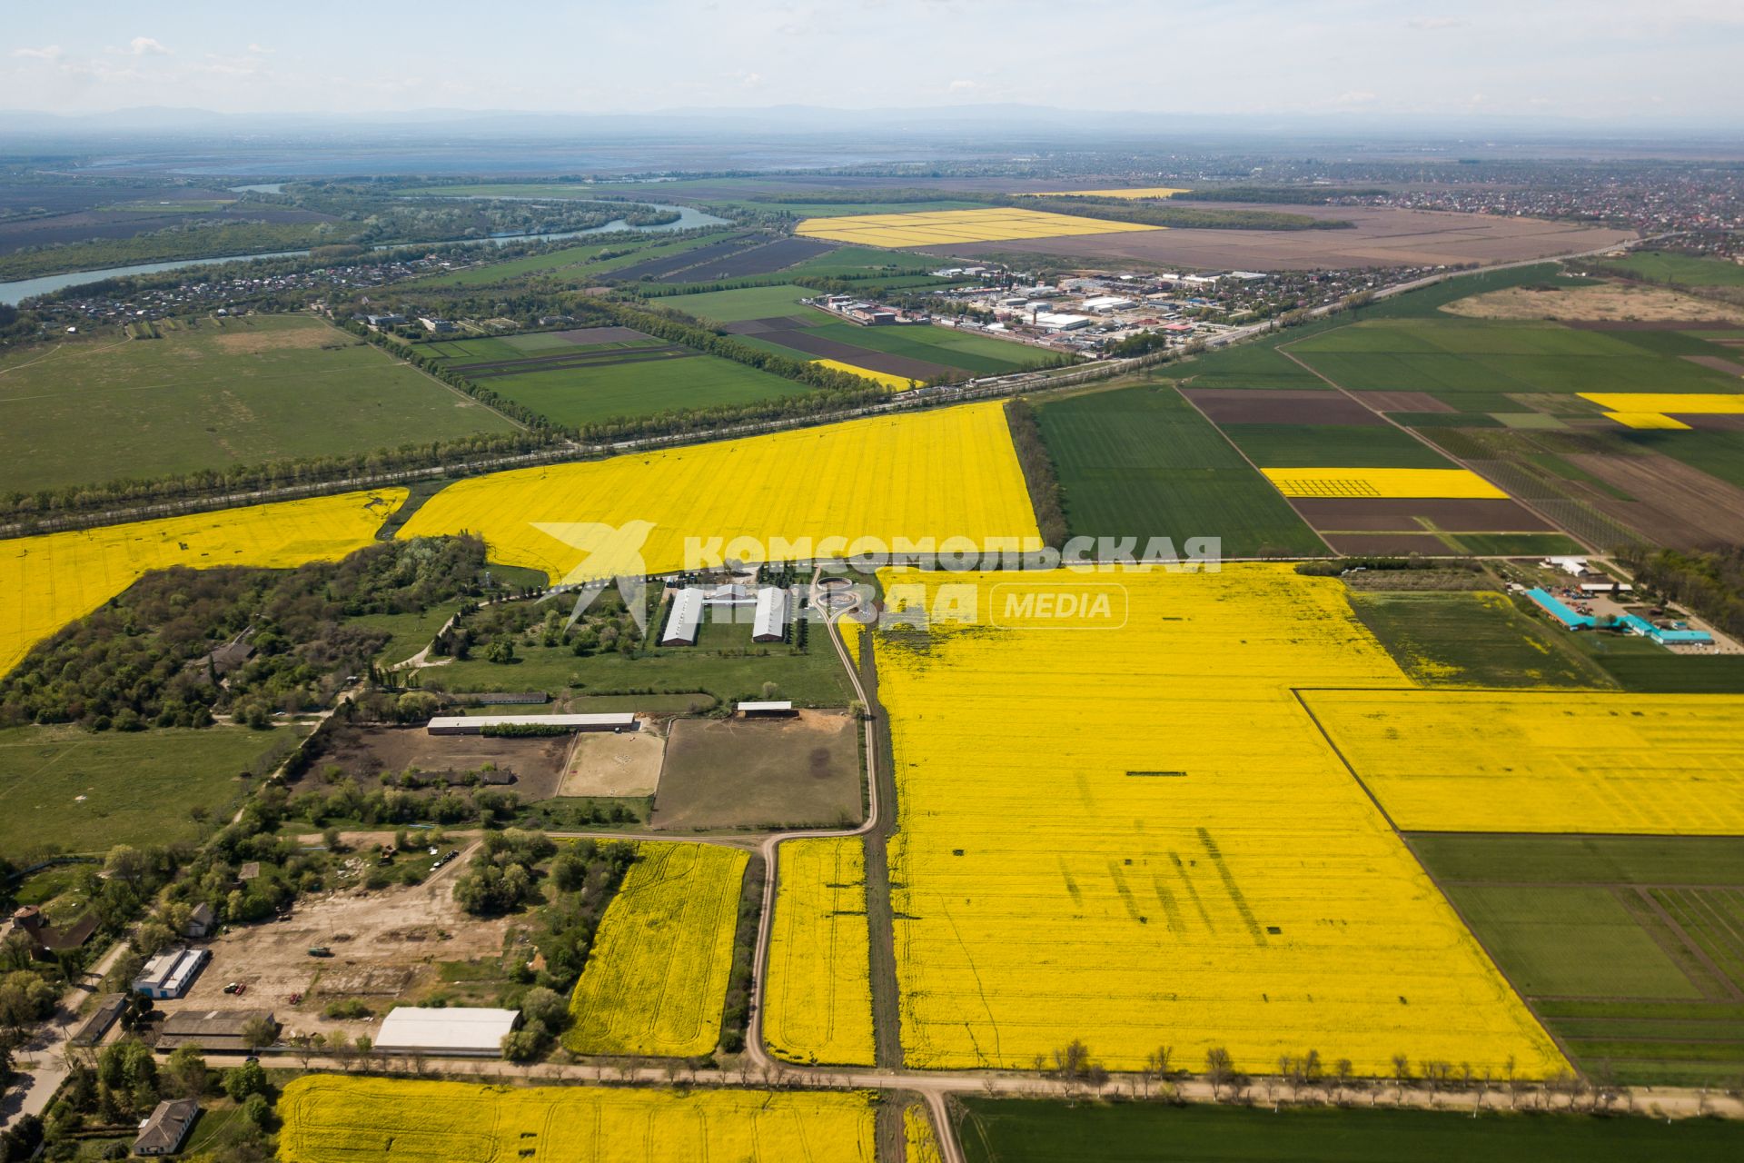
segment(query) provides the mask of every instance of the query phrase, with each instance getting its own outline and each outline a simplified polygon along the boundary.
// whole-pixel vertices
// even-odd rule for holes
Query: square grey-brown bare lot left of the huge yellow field
[[[853,715],[673,722],[654,828],[834,826],[860,818]]]

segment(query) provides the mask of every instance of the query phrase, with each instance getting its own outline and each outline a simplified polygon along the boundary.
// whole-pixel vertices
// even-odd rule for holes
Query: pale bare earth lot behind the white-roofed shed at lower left
[[[230,929],[211,942],[213,959],[194,989],[159,1008],[270,1010],[286,1036],[370,1032],[373,1025],[323,1018],[321,1010],[358,997],[380,1015],[433,987],[438,961],[488,961],[502,952],[508,919],[481,921],[453,901],[453,877],[464,861],[466,854],[424,884],[331,893],[298,901],[288,921]],[[312,945],[328,945],[333,956],[310,957]],[[230,982],[248,990],[225,994]],[[303,996],[302,1004],[291,1006],[293,994]]]

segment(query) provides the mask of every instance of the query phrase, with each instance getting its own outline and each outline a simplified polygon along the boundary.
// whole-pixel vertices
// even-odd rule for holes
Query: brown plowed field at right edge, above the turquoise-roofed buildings
[[[1591,502],[1650,541],[1676,547],[1744,544],[1744,488],[1660,455],[1570,453],[1568,460],[1634,497],[1594,495]]]

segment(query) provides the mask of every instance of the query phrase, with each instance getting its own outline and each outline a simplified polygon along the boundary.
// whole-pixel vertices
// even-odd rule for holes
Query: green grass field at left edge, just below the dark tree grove
[[[0,731],[0,851],[17,856],[56,844],[105,853],[192,839],[199,826],[188,811],[227,818],[253,783],[237,772],[288,745],[291,731]]]

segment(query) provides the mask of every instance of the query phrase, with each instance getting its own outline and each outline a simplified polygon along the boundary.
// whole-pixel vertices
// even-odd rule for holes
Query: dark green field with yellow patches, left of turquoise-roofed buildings
[[[1604,671],[1495,591],[1352,593],[1399,668],[1425,685],[1596,687]],[[1568,635],[1563,635],[1564,638]]]

